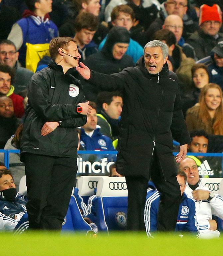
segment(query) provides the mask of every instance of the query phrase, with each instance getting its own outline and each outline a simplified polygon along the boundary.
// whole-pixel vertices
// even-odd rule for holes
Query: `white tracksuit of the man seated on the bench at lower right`
[[[200,180],[200,184],[196,189],[208,190],[207,187],[204,186],[204,182]],[[193,197],[192,189],[186,186],[185,193]],[[210,201],[202,200],[195,201],[196,207],[196,215],[197,222],[199,224],[200,229],[200,237],[201,238],[212,238],[219,237],[220,232],[218,230],[210,230],[209,220],[212,220],[212,215],[215,215],[221,219],[223,219],[223,197],[216,194]]]

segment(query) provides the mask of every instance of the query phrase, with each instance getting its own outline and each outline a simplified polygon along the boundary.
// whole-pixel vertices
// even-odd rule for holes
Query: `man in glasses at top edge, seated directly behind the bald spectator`
[[[147,41],[153,38],[153,34],[162,29],[165,18],[171,14],[178,15],[183,20],[183,37],[187,38],[188,33],[193,33],[198,29],[198,26],[187,16],[187,0],[166,0],[161,4],[159,17],[156,18],[149,28],[145,31]]]

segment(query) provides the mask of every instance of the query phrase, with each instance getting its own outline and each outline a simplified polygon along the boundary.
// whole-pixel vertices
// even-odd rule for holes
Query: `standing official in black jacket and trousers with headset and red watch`
[[[77,173],[75,127],[86,123],[92,107],[75,78],[81,55],[74,39],[53,38],[50,55],[53,60],[32,76],[27,89],[20,154],[30,228],[61,230]]]

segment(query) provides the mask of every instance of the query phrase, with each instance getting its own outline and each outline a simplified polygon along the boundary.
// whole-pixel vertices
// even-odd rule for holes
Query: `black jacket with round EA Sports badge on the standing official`
[[[25,152],[56,157],[77,156],[78,135],[75,127],[83,126],[86,115],[76,112],[76,104],[85,102],[82,85],[75,68],[65,74],[51,61],[35,73],[28,86],[28,104],[21,139],[21,161]],[[53,132],[41,136],[46,121],[62,121]]]

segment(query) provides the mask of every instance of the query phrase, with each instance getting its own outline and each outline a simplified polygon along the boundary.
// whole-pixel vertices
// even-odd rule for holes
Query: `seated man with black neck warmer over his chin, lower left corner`
[[[11,172],[8,169],[0,170],[0,231],[17,229],[26,213],[26,201],[17,193]],[[27,218],[23,231],[28,228]]]

